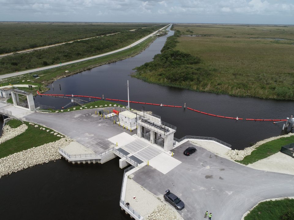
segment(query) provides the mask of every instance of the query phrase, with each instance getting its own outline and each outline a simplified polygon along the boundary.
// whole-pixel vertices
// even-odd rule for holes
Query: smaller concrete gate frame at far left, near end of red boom
[[[15,107],[26,108],[26,109],[29,109],[29,110],[36,109],[35,102],[34,102],[34,97],[33,97],[33,94],[31,92],[26,92],[26,91],[23,91],[23,90],[14,89],[14,90],[11,91],[11,95],[12,95],[13,105]],[[26,100],[24,102],[21,102],[19,100],[19,95],[26,96]]]

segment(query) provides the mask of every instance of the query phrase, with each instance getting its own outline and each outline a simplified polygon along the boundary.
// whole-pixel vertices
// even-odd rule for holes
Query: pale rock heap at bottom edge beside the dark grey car
[[[165,204],[158,205],[156,209],[146,216],[146,220],[176,220],[179,219],[175,211],[172,211]]]

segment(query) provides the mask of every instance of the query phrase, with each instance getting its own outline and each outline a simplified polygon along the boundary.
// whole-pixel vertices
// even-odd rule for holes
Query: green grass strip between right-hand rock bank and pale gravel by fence
[[[244,157],[243,160],[236,160],[238,163],[248,165],[258,160],[271,156],[281,150],[281,147],[294,142],[294,136],[279,138],[273,141],[266,142],[258,146],[250,155]]]

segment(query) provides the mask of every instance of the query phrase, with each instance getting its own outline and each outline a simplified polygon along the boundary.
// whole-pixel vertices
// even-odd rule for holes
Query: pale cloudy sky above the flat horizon
[[[0,20],[294,24],[294,0],[0,0]]]

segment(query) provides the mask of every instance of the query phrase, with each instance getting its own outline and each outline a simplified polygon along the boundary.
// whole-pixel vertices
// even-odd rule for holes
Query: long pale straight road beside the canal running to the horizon
[[[169,25],[171,25],[171,24],[169,24]],[[165,26],[163,28],[160,28],[157,31],[160,31],[160,30],[168,27],[169,25],[167,25],[167,26]],[[103,53],[103,54],[96,55],[96,56],[93,56],[93,57],[87,57],[87,58],[83,58],[83,59],[80,59],[80,60],[74,60],[74,61],[70,61],[70,62],[66,62],[66,63],[62,63],[62,64],[56,64],[56,65],[51,65],[51,66],[46,66],[46,67],[41,67],[41,68],[36,68],[36,69],[31,69],[31,70],[8,73],[8,74],[0,75],[0,79],[5,79],[5,78],[8,78],[8,77],[12,77],[12,76],[18,76],[18,75],[23,75],[23,74],[26,74],[26,73],[31,73],[31,72],[37,72],[37,71],[41,71],[41,70],[51,69],[51,68],[64,66],[64,65],[68,65],[68,64],[78,63],[78,62],[81,62],[81,61],[91,60],[91,59],[95,59],[95,58],[98,58],[98,57],[104,57],[106,55],[117,53],[117,52],[129,49],[129,48],[131,48],[133,46],[136,46],[139,43],[141,43],[141,42],[145,41],[146,39],[148,39],[149,37],[151,37],[152,35],[156,34],[157,31],[154,31],[152,34],[149,34],[146,37],[143,37],[142,39],[140,39],[140,40],[138,40],[138,41],[136,41],[136,42],[134,42],[134,43],[132,43],[132,44],[130,44],[128,46],[125,46],[125,47],[123,47],[121,49],[118,49],[118,50],[114,50],[114,51],[111,51],[111,52],[108,52],[108,53]]]

